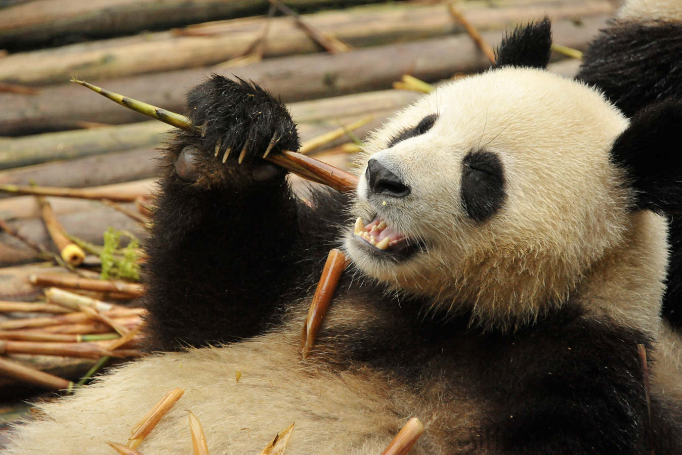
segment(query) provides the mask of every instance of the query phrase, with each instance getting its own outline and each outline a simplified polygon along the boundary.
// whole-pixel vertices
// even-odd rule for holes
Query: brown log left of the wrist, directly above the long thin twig
[[[37,164],[0,172],[0,184],[30,185],[35,182],[44,187],[83,188],[137,181],[157,175],[158,161],[155,158],[158,156],[158,150],[147,146]],[[8,195],[0,194],[0,198],[6,197]],[[54,208],[58,213],[57,207]],[[1,208],[0,218],[6,219]]]

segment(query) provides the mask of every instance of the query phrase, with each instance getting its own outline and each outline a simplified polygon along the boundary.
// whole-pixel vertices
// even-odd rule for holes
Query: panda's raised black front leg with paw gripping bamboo
[[[149,349],[263,332],[297,236],[297,201],[266,152],[296,151],[281,101],[213,76],[188,93],[192,123],[168,146],[147,245]]]

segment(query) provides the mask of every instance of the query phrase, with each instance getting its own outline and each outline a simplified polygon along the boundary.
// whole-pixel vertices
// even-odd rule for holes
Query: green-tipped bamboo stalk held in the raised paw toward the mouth
[[[188,119],[186,116],[176,114],[175,112],[170,112],[162,108],[157,108],[156,106],[151,106],[151,104],[144,103],[143,101],[137,101],[135,99],[119,95],[118,93],[110,92],[106,89],[102,89],[101,87],[97,87],[81,80],[74,79],[73,82],[83,85],[88,89],[95,91],[96,93],[100,93],[100,95],[103,95],[104,97],[121,104],[121,106],[125,106],[126,108],[132,109],[136,112],[140,112],[140,114],[145,114],[153,119],[168,123],[168,125],[173,125],[186,131],[199,131],[198,128],[192,125],[190,119]],[[349,172],[339,168],[334,168],[333,166],[318,161],[314,158],[306,157],[300,153],[282,151],[282,153],[271,153],[270,155],[267,155],[265,159],[271,163],[278,164],[279,166],[290,170],[298,176],[307,178],[308,180],[316,183],[324,183],[325,185],[344,193],[355,191],[355,187],[357,187],[358,179],[353,174],[350,174]]]

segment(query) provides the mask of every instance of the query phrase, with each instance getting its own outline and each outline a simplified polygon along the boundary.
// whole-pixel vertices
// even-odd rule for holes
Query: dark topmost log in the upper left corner
[[[336,0],[288,0],[293,7]],[[363,3],[355,0],[355,3]],[[168,29],[267,10],[267,0],[40,0],[0,10],[0,46],[39,44],[64,35],[105,37]]]

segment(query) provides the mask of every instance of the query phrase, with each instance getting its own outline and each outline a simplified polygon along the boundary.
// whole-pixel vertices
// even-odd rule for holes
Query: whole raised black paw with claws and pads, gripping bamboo
[[[201,136],[188,140],[175,159],[187,182],[269,181],[282,168],[263,157],[299,148],[296,125],[282,101],[252,82],[214,75],[188,93],[192,124]]]

